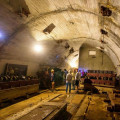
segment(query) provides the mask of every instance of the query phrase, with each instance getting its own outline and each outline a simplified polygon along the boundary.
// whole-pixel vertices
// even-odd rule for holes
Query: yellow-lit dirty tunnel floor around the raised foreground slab
[[[72,90],[71,94],[66,94],[65,86],[56,88],[54,92],[51,92],[50,90],[45,91],[35,97],[0,110],[0,118],[1,120],[15,120],[20,118],[20,115],[24,116],[23,113],[26,112],[26,109],[28,109],[26,112],[26,114],[28,114],[33,109],[38,108],[38,106],[43,102],[53,102],[56,105],[59,103],[67,103],[67,110],[64,112],[64,115],[58,116],[60,120],[120,120],[119,113],[109,112],[107,110],[109,103],[104,102],[107,98],[107,92],[112,91],[113,88],[96,86],[99,90],[99,94],[85,93],[81,90],[82,88],[83,85],[80,85],[79,92]],[[56,109],[55,106],[53,106],[53,108],[48,106],[47,108],[48,112]],[[47,108],[45,107],[44,109]],[[31,113],[31,115],[33,113]],[[43,117],[41,116],[39,119],[42,120],[42,118]],[[22,120],[25,119],[22,118]]]

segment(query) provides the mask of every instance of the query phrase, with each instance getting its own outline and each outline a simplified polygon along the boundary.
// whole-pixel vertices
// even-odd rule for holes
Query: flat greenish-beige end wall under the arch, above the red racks
[[[89,55],[89,50],[95,50],[96,56],[93,58]],[[103,57],[103,58],[102,58]],[[80,68],[87,70],[110,70],[116,71],[114,64],[112,63],[109,56],[102,53],[100,50],[93,48],[89,45],[83,45],[80,48]]]

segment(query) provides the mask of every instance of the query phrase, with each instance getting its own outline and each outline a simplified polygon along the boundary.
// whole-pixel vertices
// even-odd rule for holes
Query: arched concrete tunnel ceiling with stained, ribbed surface
[[[118,0],[0,0],[0,6],[1,58],[55,63],[74,57],[87,42],[104,47],[115,66],[120,64]],[[107,6],[112,15],[103,18],[100,6]],[[51,23],[55,25],[52,32],[43,33]],[[100,29],[108,32],[104,37],[107,44],[100,42]],[[44,46],[44,54],[32,51],[36,42]],[[71,55],[64,47],[66,42],[75,50]]]

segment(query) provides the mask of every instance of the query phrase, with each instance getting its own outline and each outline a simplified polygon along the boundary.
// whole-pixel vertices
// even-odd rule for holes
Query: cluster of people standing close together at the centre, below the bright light
[[[79,70],[74,70],[73,72],[69,70],[68,74],[66,75],[66,93],[68,92],[69,88],[69,93],[71,93],[71,85],[72,89],[75,90],[75,86],[79,87],[79,82],[81,79],[81,72]]]

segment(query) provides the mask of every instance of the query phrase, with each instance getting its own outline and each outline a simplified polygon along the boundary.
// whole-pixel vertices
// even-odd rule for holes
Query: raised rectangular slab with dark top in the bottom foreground
[[[45,102],[18,120],[57,120],[66,109],[66,103]]]

